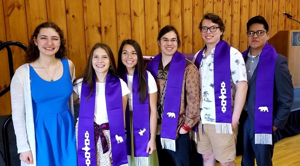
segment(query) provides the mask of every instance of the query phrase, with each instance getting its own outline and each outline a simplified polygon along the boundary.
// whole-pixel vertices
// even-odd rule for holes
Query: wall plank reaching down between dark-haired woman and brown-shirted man
[[[157,0],[145,0],[145,40],[146,52],[144,55],[158,54],[158,2]]]

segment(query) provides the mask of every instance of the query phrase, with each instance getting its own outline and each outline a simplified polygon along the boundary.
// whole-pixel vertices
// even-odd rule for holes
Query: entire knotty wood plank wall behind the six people
[[[206,12],[217,13],[225,22],[224,40],[243,51],[247,48],[246,23],[262,15],[271,36],[280,30],[300,29],[282,12],[300,20],[298,0],[0,0],[0,40],[28,44],[35,27],[53,21],[64,31],[68,58],[76,75],[86,66],[91,47],[107,43],[117,58],[124,39],[134,39],[144,55],[158,54],[157,35],[165,25],[177,28],[182,42],[178,50],[196,52],[203,47],[199,22]],[[24,52],[12,47],[14,69],[23,64]],[[9,85],[6,50],[0,51],[0,91]],[[0,115],[11,113],[10,96],[0,98]]]

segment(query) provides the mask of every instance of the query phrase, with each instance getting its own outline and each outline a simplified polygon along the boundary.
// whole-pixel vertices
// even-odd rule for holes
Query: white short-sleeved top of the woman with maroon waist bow
[[[79,83],[76,86],[73,86],[73,90],[78,94],[79,99],[81,98],[81,83],[83,78],[78,79],[76,83]],[[127,88],[126,83],[120,78],[122,97],[130,93]],[[84,99],[85,100],[85,99]],[[78,119],[77,119],[78,120]],[[94,121],[101,125],[102,123],[108,122],[107,109],[106,109],[106,100],[105,100],[105,83],[96,83],[96,101],[95,101],[95,113]]]

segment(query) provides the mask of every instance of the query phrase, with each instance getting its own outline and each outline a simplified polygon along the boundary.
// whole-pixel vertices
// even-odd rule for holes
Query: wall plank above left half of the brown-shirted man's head
[[[170,25],[170,0],[158,0],[158,32]]]

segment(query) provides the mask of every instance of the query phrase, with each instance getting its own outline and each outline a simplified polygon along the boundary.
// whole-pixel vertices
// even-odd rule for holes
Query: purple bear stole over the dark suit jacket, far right
[[[244,59],[249,50],[242,53]],[[277,52],[272,45],[266,45],[257,64],[255,88],[255,144],[272,145],[273,87]]]

